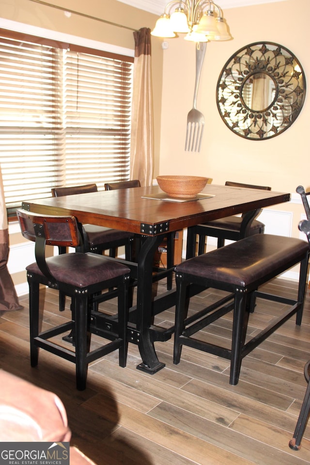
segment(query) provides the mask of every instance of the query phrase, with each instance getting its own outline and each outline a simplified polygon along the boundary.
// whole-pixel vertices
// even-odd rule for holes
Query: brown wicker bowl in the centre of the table
[[[169,197],[191,198],[202,191],[209,178],[202,176],[157,176],[158,186]]]

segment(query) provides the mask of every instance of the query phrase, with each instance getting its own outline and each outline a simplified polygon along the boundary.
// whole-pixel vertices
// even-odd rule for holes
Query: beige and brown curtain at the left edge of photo
[[[21,310],[11,275],[7,268],[9,258],[9,232],[6,214],[2,173],[0,169],[0,311]]]

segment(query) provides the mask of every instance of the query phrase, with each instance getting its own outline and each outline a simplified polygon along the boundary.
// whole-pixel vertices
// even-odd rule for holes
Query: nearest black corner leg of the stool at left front
[[[75,337],[76,337],[76,381],[77,389],[82,391],[86,387],[87,353],[90,346],[88,296],[79,294],[74,297]]]

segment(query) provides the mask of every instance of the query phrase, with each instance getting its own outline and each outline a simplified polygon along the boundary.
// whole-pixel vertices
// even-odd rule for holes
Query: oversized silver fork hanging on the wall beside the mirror
[[[197,109],[197,94],[206,47],[206,42],[198,42],[196,44],[196,79],[194,89],[194,100],[193,108],[187,114],[187,128],[185,141],[185,150],[190,152],[200,152],[202,145],[204,116],[202,112]]]

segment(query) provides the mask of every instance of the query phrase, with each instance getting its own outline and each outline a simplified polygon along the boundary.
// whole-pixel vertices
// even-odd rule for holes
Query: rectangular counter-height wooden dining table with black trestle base
[[[210,220],[289,202],[290,197],[283,192],[207,184],[195,198],[182,199],[168,197],[159,186],[146,186],[25,200],[22,208],[38,214],[72,215],[82,224],[114,228],[143,238],[136,262],[128,263],[137,285],[128,338],[139,347],[142,361],[137,368],[154,374],[165,366],[158,360],[154,343],[169,340],[173,333],[173,326],[154,325],[154,316],[175,306],[176,296],[175,289],[152,296],[154,254],[163,237]],[[200,291],[193,288],[192,294]],[[98,334],[100,324],[96,317]]]

